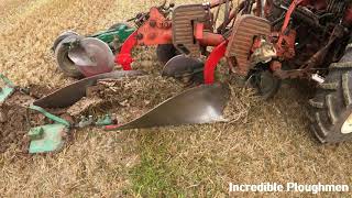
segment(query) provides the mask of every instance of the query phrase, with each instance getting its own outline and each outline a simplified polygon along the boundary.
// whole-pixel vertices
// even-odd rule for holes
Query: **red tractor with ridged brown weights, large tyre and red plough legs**
[[[275,95],[282,79],[310,79],[317,84],[309,100],[312,132],[322,143],[352,139],[351,1],[164,3],[133,21],[138,30],[116,56],[124,70],[132,69],[134,46],[157,45],[162,74],[183,81],[213,84],[222,58],[237,81],[263,98]]]

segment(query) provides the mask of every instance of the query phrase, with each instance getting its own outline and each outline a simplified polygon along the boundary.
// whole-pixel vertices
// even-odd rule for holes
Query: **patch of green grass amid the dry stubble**
[[[174,169],[165,161],[169,153],[164,143],[157,142],[157,135],[153,132],[139,135],[141,163],[130,173],[133,191],[142,197],[184,197],[184,193],[175,186]]]

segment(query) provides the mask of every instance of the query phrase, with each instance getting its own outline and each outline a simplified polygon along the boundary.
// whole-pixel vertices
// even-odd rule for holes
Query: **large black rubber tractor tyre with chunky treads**
[[[321,143],[352,140],[352,48],[330,65],[326,81],[309,100],[311,130]]]

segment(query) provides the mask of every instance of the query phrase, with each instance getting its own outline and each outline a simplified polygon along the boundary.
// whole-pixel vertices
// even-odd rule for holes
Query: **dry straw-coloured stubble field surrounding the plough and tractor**
[[[58,33],[91,33],[152,4],[155,1],[0,0],[0,73],[20,85],[64,86],[70,79],[59,74],[48,51]],[[155,61],[150,54],[139,57],[142,66]],[[351,185],[351,143],[317,143],[307,129],[307,89],[295,85],[285,85],[270,102],[233,88],[231,123],[109,133],[90,129],[75,132],[70,145],[57,154],[4,153],[0,195],[224,197],[229,182]]]

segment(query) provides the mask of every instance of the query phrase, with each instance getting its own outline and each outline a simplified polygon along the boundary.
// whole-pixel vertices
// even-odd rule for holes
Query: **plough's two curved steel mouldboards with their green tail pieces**
[[[224,109],[227,102],[228,88],[220,84],[207,86],[206,88],[187,90],[147,111],[141,118],[128,123],[119,123],[116,118],[108,113],[98,118],[94,118],[92,116],[81,116],[80,118],[78,118],[78,116],[76,118],[74,116],[69,116],[69,119],[65,120],[65,118],[55,116],[47,111],[47,109],[66,109],[75,105],[77,101],[86,97],[87,89],[97,85],[97,81],[100,79],[121,79],[141,75],[145,75],[145,73],[131,70],[96,75],[74,82],[70,86],[59,89],[42,99],[32,101],[31,98],[30,100],[20,103],[20,106],[42,114],[47,120],[47,124],[32,127],[29,129],[29,153],[34,154],[61,151],[66,142],[66,138],[70,134],[73,129],[103,127],[105,130],[112,131],[152,128],[156,125],[178,125],[185,123],[223,121],[222,109]],[[8,78],[3,77],[3,79],[6,79],[6,82],[8,84],[1,89],[4,91],[0,92],[1,97],[6,96],[2,100],[4,102],[6,99],[10,98],[13,92],[19,90],[19,88],[15,87]],[[22,92],[22,95],[30,94]],[[190,103],[189,100],[197,100],[198,103],[195,106]],[[212,108],[202,109],[204,107]],[[177,110],[175,108],[177,108]],[[189,117],[187,114],[187,109],[189,108],[194,109],[194,114],[197,114],[197,117]],[[166,112],[168,112],[168,117],[163,117]],[[207,112],[207,117],[204,116],[205,112]],[[0,113],[2,113],[1,106]],[[30,117],[28,119],[30,119]]]

